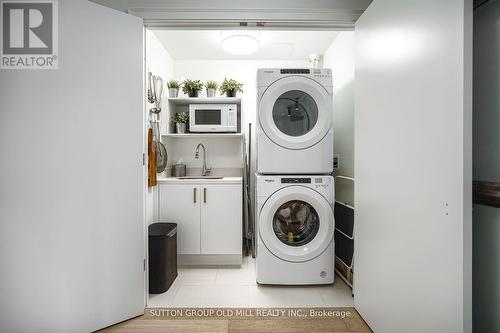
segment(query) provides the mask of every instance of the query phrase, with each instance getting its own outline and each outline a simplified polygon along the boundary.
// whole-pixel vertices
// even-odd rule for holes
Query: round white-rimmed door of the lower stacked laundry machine
[[[265,202],[259,217],[264,245],[280,259],[303,262],[320,255],[334,231],[330,204],[318,192],[289,186]]]

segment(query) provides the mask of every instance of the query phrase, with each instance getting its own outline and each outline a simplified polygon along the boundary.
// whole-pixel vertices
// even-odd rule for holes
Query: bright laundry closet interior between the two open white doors
[[[147,306],[353,306],[354,32],[154,28],[145,30],[145,44],[148,96],[160,96],[156,102],[154,97],[146,101],[145,128],[153,145],[148,151],[155,150],[160,138],[166,155],[164,170],[149,174],[150,181],[155,178],[146,197],[149,242],[156,241],[153,224],[176,223],[178,266],[168,273],[170,278],[153,282],[155,286],[150,276]],[[269,95],[271,83],[282,78],[290,82],[277,91],[285,90]],[[241,84],[235,97],[221,90],[225,80]],[[196,97],[189,97],[185,83],[196,81],[203,86],[196,88]],[[215,96],[207,89],[213,88],[208,84],[212,81],[217,84]],[[263,102],[266,98],[269,101]],[[267,153],[263,145],[257,146],[259,135],[266,133],[258,128],[263,121],[259,108],[267,108],[263,103],[270,103],[274,130],[285,134],[271,139]],[[187,119],[198,112],[192,109],[206,112],[207,107],[228,105],[237,110],[234,129],[197,130],[197,122]],[[285,114],[279,114],[280,109]],[[280,125],[279,117],[287,120]],[[183,128],[177,121],[184,122]],[[267,121],[273,123],[273,118]],[[307,140],[300,142],[302,137]],[[298,147],[284,149],[293,152],[290,158],[279,156],[280,145],[275,146],[287,139]],[[270,164],[268,173],[258,170],[259,150],[264,154],[261,166],[263,161]],[[291,169],[281,172],[279,161]],[[261,194],[258,179],[280,184]],[[279,208],[269,217],[275,222],[268,223],[274,238],[268,241],[279,241],[270,261],[262,259],[260,264],[263,252],[273,245],[268,243],[259,253],[259,233],[264,232],[259,230],[259,216],[274,192],[290,186],[291,197],[278,198]],[[307,188],[306,193],[297,193],[297,187]],[[157,276],[151,271],[157,252],[151,251],[164,250],[151,246],[148,274]],[[315,262],[317,258],[322,262]]]

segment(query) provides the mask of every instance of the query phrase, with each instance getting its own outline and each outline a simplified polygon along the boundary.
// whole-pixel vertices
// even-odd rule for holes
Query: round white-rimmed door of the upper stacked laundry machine
[[[259,104],[259,122],[267,137],[288,149],[317,144],[332,126],[331,96],[316,81],[289,76],[270,85]]]

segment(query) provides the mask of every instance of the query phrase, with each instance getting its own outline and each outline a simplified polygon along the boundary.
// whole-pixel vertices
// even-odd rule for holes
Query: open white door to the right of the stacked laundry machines
[[[356,22],[355,307],[376,333],[471,332],[472,1]]]

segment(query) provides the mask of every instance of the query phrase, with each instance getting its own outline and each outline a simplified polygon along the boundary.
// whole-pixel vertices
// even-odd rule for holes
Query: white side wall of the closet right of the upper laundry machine
[[[324,55],[333,74],[334,152],[340,155],[335,175],[354,177],[354,32],[340,32]],[[337,179],[336,199],[354,205],[354,183]]]

